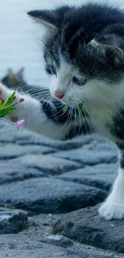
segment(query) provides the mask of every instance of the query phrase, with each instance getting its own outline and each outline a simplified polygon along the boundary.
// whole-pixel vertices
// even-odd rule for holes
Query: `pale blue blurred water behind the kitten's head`
[[[84,1],[65,0],[65,3]],[[111,1],[114,2],[114,1]],[[52,8],[61,0],[1,0],[0,2],[0,78],[11,67],[17,71],[24,66],[25,77],[30,83],[47,86],[49,78],[43,68],[39,38],[42,30],[27,16],[26,11]],[[124,4],[121,2],[121,7]]]

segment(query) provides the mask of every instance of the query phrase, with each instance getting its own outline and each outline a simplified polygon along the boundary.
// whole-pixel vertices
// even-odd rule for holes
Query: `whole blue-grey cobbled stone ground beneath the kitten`
[[[124,220],[98,215],[117,156],[99,136],[54,142],[2,131],[0,258],[124,257]]]

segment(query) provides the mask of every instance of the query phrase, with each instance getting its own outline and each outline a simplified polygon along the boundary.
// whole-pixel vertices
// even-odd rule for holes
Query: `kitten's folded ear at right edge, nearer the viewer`
[[[90,43],[92,46],[102,50],[115,66],[119,66],[124,63],[124,52],[120,47],[104,41],[98,42],[96,39],[91,40]]]

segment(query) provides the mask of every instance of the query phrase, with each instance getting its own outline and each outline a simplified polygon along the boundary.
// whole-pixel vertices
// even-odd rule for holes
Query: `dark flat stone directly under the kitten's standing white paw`
[[[101,219],[96,205],[64,215],[54,225],[52,233],[62,234],[82,244],[124,253],[123,229],[124,219]]]

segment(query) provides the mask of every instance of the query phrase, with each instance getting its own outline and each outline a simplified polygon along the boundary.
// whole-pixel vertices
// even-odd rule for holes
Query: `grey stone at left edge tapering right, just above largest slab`
[[[21,166],[16,161],[7,161],[7,163],[5,161],[0,161],[0,185],[13,181],[25,180],[27,178],[43,176],[47,175],[40,169],[27,168],[25,165]]]

